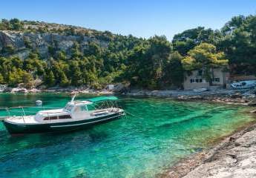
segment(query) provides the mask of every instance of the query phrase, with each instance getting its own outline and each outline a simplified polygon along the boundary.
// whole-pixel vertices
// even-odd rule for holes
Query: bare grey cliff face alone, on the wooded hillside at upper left
[[[88,47],[89,42],[96,42],[101,47],[108,47],[108,42],[89,36],[65,36],[59,33],[22,33],[16,31],[0,31],[0,50],[8,45],[13,46],[15,53],[21,59],[27,58],[30,50],[38,50],[42,59],[50,56],[49,47],[62,50],[70,56],[74,42],[80,44],[81,51]]]

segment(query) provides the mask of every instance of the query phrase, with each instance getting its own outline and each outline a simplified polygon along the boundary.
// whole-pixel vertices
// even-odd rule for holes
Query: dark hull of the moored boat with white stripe
[[[45,133],[58,131],[73,131],[82,128],[90,128],[102,122],[109,122],[114,119],[119,119],[124,116],[124,112],[118,112],[107,116],[99,116],[93,119],[83,119],[71,122],[53,122],[42,124],[13,124],[11,122],[3,121],[4,126],[10,134],[19,133]]]

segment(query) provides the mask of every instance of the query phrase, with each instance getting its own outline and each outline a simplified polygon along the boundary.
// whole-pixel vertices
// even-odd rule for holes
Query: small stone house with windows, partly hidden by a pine
[[[229,84],[229,72],[223,70],[222,67],[214,68],[214,79],[212,79],[213,86],[219,86],[220,88],[226,88]],[[186,74],[183,82],[184,90],[193,90],[198,88],[210,88],[209,82],[203,79],[203,70],[193,70],[191,73]]]

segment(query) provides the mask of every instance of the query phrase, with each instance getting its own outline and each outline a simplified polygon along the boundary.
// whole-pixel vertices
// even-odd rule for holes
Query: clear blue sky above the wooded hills
[[[0,19],[73,24],[169,40],[183,30],[220,29],[232,16],[256,15],[255,0],[1,0]]]

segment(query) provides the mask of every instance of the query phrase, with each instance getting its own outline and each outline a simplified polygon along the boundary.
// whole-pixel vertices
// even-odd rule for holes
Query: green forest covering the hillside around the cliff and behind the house
[[[233,74],[253,74],[256,71],[256,16],[234,16],[220,29],[196,27],[174,35],[171,42],[165,36],[149,39],[116,35],[97,30],[66,28],[24,28],[36,22],[2,19],[0,30],[24,33],[59,33],[63,36],[91,36],[105,40],[102,47],[93,40],[86,49],[79,42],[70,53],[48,46],[50,56],[42,59],[39,51],[30,49],[26,59],[15,55],[16,48],[7,45],[0,51],[0,83],[26,88],[39,85],[87,86],[94,89],[116,82],[128,82],[134,88],[183,88],[183,79],[191,70],[202,69],[211,80],[212,67],[226,66]]]

